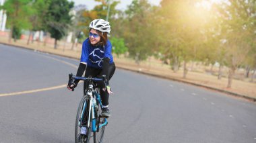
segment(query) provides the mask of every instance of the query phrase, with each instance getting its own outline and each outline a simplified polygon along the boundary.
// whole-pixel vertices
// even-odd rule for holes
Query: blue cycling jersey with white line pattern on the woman
[[[109,64],[113,63],[112,45],[109,40],[104,46],[92,46],[89,42],[89,38],[83,42],[80,62],[85,62],[94,68],[102,68],[103,58],[109,58]]]

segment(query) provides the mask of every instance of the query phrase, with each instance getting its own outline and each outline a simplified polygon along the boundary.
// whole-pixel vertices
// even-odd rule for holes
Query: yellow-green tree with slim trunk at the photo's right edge
[[[215,5],[221,25],[222,44],[226,47],[226,63],[229,67],[228,85],[232,85],[234,72],[249,56],[255,40],[256,1],[237,0]]]

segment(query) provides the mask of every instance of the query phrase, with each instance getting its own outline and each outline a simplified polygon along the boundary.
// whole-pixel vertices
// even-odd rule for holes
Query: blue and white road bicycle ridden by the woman
[[[75,77],[69,74],[69,82],[75,79],[88,82],[75,119],[75,142],[89,143],[93,137],[94,143],[102,142],[104,130],[108,121],[102,117],[102,102],[99,94],[98,82],[104,82],[106,77]],[[92,134],[92,136],[91,136]]]

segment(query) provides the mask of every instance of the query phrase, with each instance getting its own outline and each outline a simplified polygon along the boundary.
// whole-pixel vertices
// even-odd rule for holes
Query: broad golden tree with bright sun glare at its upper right
[[[196,7],[197,1],[161,1],[158,15],[159,51],[164,60],[170,60],[172,69],[178,70],[183,61],[183,77],[187,75],[187,62],[200,59],[199,48],[203,45],[204,29],[207,23],[202,7]]]

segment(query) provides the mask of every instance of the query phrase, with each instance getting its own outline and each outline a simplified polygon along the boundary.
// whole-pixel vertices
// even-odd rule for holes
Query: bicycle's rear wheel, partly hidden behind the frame
[[[96,103],[98,106],[98,109],[95,111],[96,117],[97,117],[96,126],[98,127],[101,124],[100,122],[104,121],[104,118],[100,118],[100,113],[102,112],[102,109],[98,101],[96,101]],[[105,130],[105,126],[102,126],[100,129],[94,132],[94,143],[101,143],[103,141],[104,130]]]

